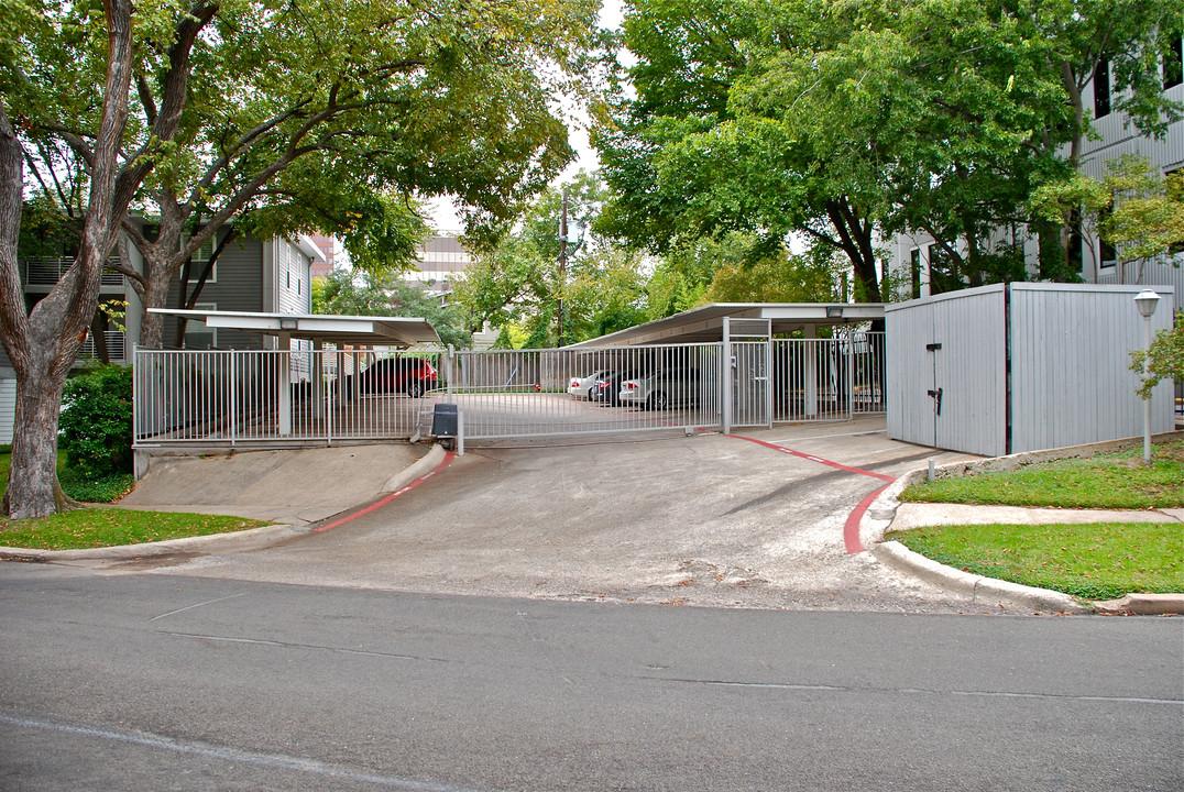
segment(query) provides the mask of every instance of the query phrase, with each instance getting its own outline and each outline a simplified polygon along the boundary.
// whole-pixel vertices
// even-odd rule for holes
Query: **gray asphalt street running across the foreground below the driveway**
[[[1163,790],[1184,622],[0,565],[4,790]]]

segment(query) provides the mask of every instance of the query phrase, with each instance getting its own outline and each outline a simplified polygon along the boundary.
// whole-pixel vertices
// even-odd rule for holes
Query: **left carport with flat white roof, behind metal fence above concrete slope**
[[[255,349],[136,349],[137,447],[213,443],[308,442],[404,431],[418,410],[348,411],[347,373],[359,356],[346,347],[407,349],[439,345],[427,320],[255,311],[149,309],[214,330],[258,336]],[[297,341],[294,347],[292,341]],[[300,343],[303,342],[303,343]],[[326,349],[326,345],[333,348]],[[271,347],[271,348],[266,348]],[[438,354],[438,353],[435,353]],[[328,387],[320,387],[328,385]],[[414,414],[410,414],[414,412]],[[407,413],[407,414],[404,414]]]

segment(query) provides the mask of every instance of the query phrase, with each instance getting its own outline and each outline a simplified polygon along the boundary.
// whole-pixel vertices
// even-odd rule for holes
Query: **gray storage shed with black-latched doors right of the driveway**
[[[1144,347],[1134,295],[1171,286],[1012,283],[888,305],[888,437],[1002,456],[1143,433],[1130,353]],[[1172,384],[1152,395],[1152,431],[1173,427]]]

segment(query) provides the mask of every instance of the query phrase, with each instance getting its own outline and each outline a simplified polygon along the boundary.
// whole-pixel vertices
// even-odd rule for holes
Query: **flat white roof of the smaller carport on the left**
[[[321,314],[262,314],[253,311],[181,310],[149,308],[153,314],[205,322],[208,328],[288,335],[291,339],[335,345],[414,347],[439,343],[436,328],[425,318],[401,316],[326,316]]]

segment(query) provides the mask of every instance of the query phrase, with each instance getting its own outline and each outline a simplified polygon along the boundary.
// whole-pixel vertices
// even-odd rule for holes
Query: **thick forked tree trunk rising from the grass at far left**
[[[184,14],[172,27],[163,24],[167,12],[154,9],[150,20],[161,25],[157,32],[168,32],[172,60],[188,62],[198,33],[217,7],[199,0],[189,8],[191,13]],[[4,238],[0,243],[0,328],[4,330],[0,340],[17,372],[12,466],[4,508],[12,517],[34,517],[53,514],[65,503],[56,472],[62,387],[86,337],[98,302],[103,264],[115,245],[127,207],[150,172],[153,156],[176,133],[186,81],[179,75],[167,86],[160,112],[146,130],[148,134],[139,146],[129,146],[126,139],[128,92],[135,52],[131,4],[107,0],[101,15],[94,15],[89,7],[67,8],[64,19],[52,19],[46,8],[40,9],[40,15],[27,6],[22,8],[26,13],[20,15],[15,27],[5,32],[0,47],[5,67],[5,99],[0,104],[0,149],[4,150],[0,155],[4,163],[0,166],[0,215],[5,217],[0,225]],[[60,39],[89,38],[88,34],[102,36],[107,45],[85,53],[78,71],[102,73],[102,89],[98,94],[88,91],[79,96],[71,92],[76,85],[67,82],[58,86],[63,94],[57,107],[86,112],[96,123],[85,136],[70,133],[60,124],[52,128],[85,161],[89,173],[78,253],[57,285],[30,311],[15,258],[25,147],[14,134],[8,114],[14,115],[19,128],[44,123],[39,112],[45,105],[28,104],[37,98],[38,90],[25,66],[52,54],[45,50],[57,47]],[[47,123],[45,127],[50,131]]]

